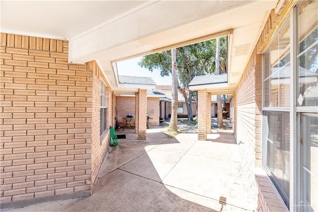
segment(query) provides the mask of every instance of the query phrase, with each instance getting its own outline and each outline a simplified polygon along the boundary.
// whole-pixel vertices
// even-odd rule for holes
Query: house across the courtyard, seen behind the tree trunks
[[[168,119],[171,116],[171,99],[172,99],[172,86],[171,85],[156,85],[154,90],[163,93],[164,97],[160,98],[160,117]],[[196,116],[196,101],[192,99],[192,115]],[[188,110],[185,104],[183,95],[178,90],[178,118],[187,118]]]

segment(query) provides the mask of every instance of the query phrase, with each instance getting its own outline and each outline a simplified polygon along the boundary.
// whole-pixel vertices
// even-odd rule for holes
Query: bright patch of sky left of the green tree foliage
[[[140,60],[141,60],[141,57],[123,61],[123,62],[118,62],[117,63],[118,75],[148,76],[148,77],[152,77],[153,80],[158,85],[171,84],[171,75],[162,77],[160,76],[159,70],[154,70],[153,72],[151,72],[148,69],[141,68],[137,64]]]

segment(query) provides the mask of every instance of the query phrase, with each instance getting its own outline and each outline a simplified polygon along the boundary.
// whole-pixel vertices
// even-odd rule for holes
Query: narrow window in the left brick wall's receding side
[[[100,81],[100,132],[101,136],[107,129],[107,88],[103,81]]]

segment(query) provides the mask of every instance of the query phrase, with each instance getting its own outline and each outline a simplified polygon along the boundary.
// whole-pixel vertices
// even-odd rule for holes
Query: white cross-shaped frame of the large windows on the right
[[[298,106],[297,95],[299,85],[299,71],[298,71],[298,6],[302,1],[295,3],[291,9],[289,16],[290,20],[290,107],[264,107],[264,55],[262,63],[262,111],[277,111],[289,112],[290,114],[290,190],[289,190],[289,208],[290,211],[299,210],[301,204],[301,117],[304,113],[317,114],[318,106]],[[282,27],[282,24],[280,27]],[[277,34],[277,33],[276,33]],[[274,39],[273,39],[274,40]],[[266,49],[270,47],[270,43]],[[263,122],[262,122],[263,123]],[[262,134],[264,134],[264,126],[262,125]],[[262,135],[262,166],[266,170],[266,154],[267,146],[264,143],[267,141]],[[277,191],[276,187],[274,189]],[[280,197],[280,196],[279,196]],[[280,197],[281,198],[281,197]]]

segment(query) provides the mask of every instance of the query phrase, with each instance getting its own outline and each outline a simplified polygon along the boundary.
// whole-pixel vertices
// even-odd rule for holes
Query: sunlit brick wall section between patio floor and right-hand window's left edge
[[[239,82],[235,100],[235,135],[239,143],[245,181],[257,207],[254,169],[261,165],[261,56],[255,51]]]

